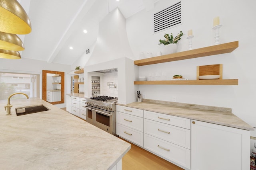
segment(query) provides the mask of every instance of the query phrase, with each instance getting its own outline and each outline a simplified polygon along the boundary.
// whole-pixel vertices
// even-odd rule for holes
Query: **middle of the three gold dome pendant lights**
[[[23,51],[24,45],[18,35],[0,32],[0,49]]]

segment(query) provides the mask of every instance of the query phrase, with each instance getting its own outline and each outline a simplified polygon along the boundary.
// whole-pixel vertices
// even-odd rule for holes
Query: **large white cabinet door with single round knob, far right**
[[[249,170],[250,131],[192,120],[192,170]]]

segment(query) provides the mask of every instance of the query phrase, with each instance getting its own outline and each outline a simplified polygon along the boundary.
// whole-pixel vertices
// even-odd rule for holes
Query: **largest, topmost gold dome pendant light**
[[[0,0],[0,31],[12,34],[28,34],[31,23],[17,0]]]

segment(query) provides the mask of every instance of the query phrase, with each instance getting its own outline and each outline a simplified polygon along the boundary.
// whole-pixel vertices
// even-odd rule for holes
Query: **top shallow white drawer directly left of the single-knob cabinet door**
[[[190,119],[144,110],[144,118],[190,129]]]

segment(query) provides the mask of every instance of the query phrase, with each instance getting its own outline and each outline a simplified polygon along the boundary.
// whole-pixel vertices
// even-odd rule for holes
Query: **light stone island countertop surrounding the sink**
[[[131,145],[38,98],[0,100],[1,170],[108,170]],[[49,111],[16,116],[16,107],[41,105]]]

